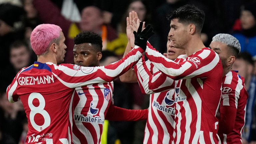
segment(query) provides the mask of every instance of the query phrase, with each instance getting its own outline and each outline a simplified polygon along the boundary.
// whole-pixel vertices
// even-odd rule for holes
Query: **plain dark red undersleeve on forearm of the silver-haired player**
[[[229,134],[234,129],[236,119],[235,107],[222,106],[220,107],[219,130],[218,133]]]

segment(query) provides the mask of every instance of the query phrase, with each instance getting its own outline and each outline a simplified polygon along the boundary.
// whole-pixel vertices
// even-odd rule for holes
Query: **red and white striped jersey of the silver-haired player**
[[[229,71],[223,77],[220,108],[222,106],[231,106],[236,108],[237,111],[235,117],[235,125],[232,132],[228,135],[219,133],[221,143],[242,143],[242,132],[245,124],[247,99],[248,93],[245,88],[244,78],[240,77],[236,71]]]

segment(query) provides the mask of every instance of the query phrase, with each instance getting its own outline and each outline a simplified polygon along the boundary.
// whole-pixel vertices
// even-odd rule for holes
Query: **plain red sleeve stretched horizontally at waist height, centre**
[[[110,104],[106,117],[106,120],[111,121],[137,121],[146,120],[148,118],[148,109],[144,110],[130,110],[124,109]]]

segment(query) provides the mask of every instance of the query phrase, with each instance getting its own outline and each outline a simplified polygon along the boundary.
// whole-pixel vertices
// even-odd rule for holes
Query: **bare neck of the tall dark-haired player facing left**
[[[187,45],[184,46],[184,50],[185,50],[187,56],[192,55],[193,53],[199,51],[202,48],[205,48],[205,46],[201,40],[201,37],[200,38],[199,37],[192,38],[187,43]]]

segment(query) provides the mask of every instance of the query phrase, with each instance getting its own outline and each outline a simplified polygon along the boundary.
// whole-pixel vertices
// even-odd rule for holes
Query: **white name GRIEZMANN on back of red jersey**
[[[54,83],[53,75],[46,76],[29,76],[29,77],[19,77],[18,83],[20,85],[35,85],[35,84],[49,84]]]

